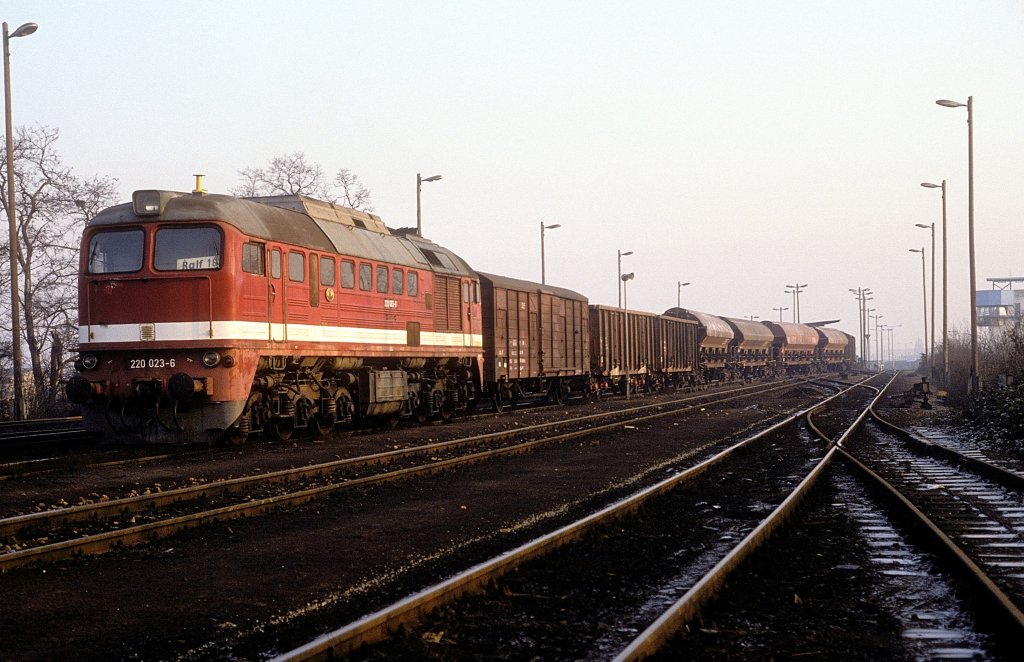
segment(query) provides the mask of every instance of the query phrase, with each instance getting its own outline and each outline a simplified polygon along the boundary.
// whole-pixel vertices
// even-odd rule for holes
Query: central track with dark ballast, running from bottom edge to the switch
[[[469,615],[477,612],[483,613],[480,627],[484,634],[476,640],[483,646],[495,646],[495,637],[507,644],[537,643],[544,636],[548,640],[529,645],[522,654],[606,658],[625,650],[626,659],[645,655],[710,597],[727,570],[756,548],[813,484],[833,453],[801,429],[801,420],[840,397],[861,399],[851,395],[854,390],[851,387],[830,396],[695,466],[281,659],[361,654],[362,647],[391,639],[400,628],[410,631],[408,628],[434,610],[441,613],[440,622],[432,620],[385,645],[391,648],[371,648],[367,655],[375,659],[424,655],[416,647],[438,637],[458,639],[460,655],[486,655],[486,650],[467,648],[474,640],[472,625],[467,622],[472,619]],[[866,415],[866,407],[867,403],[861,402],[856,408],[857,421]],[[848,425],[853,424],[848,421]],[[764,462],[758,468],[758,480],[745,478],[750,473],[741,469],[754,461]],[[624,563],[624,558],[643,561]],[[506,575],[514,576],[509,580]],[[484,598],[461,602],[457,615],[444,618],[444,607],[453,601],[498,581],[502,582],[500,588],[488,591]],[[659,618],[666,604],[673,605],[681,594],[670,615]],[[528,603],[527,611],[516,611],[516,603]],[[551,606],[553,613],[546,613],[546,607]],[[631,644],[630,633],[652,621],[664,625]],[[504,632],[494,631],[498,623],[522,624],[522,629],[503,637]],[[503,655],[514,657],[514,651],[503,650]]]

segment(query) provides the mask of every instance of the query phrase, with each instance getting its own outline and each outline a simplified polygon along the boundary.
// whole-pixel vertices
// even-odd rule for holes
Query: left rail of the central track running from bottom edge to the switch
[[[850,388],[853,388],[851,386]],[[849,390],[846,389],[846,390]],[[829,396],[825,401],[839,398],[846,390]],[[669,492],[677,486],[693,478],[700,475],[711,467],[719,464],[730,457],[738,450],[750,446],[754,442],[788,425],[805,416],[813,408],[820,407],[821,403],[810,408],[803,409],[785,419],[750,436],[729,448],[717,453],[711,458],[698,464],[680,471],[679,473],[665,479],[650,487],[612,503],[582,520],[562,527],[554,532],[541,536],[532,541],[526,542],[515,549],[507,551],[495,558],[478,564],[469,570],[456,575],[434,586],[425,588],[394,605],[370,614],[357,621],[354,621],[338,630],[324,634],[308,644],[299,647],[278,658],[279,662],[294,662],[298,660],[328,660],[338,656],[344,656],[367,644],[374,644],[385,640],[390,634],[402,626],[410,626],[431,611],[447,605],[459,597],[478,590],[481,587],[496,581],[504,574],[518,568],[531,558],[549,553],[559,547],[573,542],[597,526],[624,518],[636,511],[641,505],[651,498]]]

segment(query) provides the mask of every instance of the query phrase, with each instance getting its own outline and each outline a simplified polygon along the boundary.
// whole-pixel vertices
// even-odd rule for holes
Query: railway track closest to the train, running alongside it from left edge
[[[781,384],[745,386],[703,392],[671,402],[641,405],[509,431],[457,439],[340,459],[251,477],[212,481],[161,491],[146,490],[124,498],[81,503],[0,520],[0,571],[43,561],[103,553],[172,535],[212,522],[252,516],[385,482],[449,470],[493,457],[524,453],[545,445],[675,416],[750,398],[758,392],[793,387]]]

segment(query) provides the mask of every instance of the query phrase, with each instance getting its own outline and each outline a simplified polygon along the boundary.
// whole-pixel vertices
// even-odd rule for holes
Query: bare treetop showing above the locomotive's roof
[[[357,175],[342,168],[334,182],[328,181],[324,168],[306,161],[302,152],[274,157],[266,168],[246,168],[239,174],[242,183],[230,190],[236,196],[308,196],[352,209],[373,211],[370,191]]]

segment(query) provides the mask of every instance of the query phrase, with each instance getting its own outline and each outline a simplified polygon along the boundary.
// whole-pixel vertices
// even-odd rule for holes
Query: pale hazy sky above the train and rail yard
[[[226,193],[303,152],[391,226],[484,272],[616,302],[857,334],[868,287],[922,342],[921,258],[948,182],[950,326],[967,328],[967,112],[978,282],[1024,276],[1024,2],[73,1],[3,3],[14,124],[81,176]],[[938,274],[941,328],[941,270]],[[929,294],[930,297],[930,294]],[[930,301],[930,298],[929,298]],[[792,311],[783,313],[791,319]],[[941,331],[940,331],[941,333]],[[873,344],[873,342],[872,342]],[[872,349],[873,353],[873,349]]]

